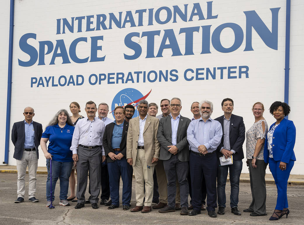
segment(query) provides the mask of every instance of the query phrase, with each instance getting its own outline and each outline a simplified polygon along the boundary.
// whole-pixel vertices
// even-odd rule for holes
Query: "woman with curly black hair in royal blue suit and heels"
[[[267,133],[264,146],[264,161],[275,179],[278,189],[277,205],[269,220],[278,220],[289,214],[287,201],[287,182],[295,163],[295,125],[284,117],[290,113],[285,102],[274,102],[269,108],[271,115],[277,120]],[[268,151],[266,150],[268,149]]]

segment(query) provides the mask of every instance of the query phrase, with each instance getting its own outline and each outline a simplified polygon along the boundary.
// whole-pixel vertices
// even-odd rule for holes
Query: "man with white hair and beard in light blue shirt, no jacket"
[[[190,153],[190,175],[192,189],[193,210],[189,216],[201,213],[202,207],[202,176],[208,180],[207,210],[209,217],[216,217],[216,171],[217,157],[215,154],[217,146],[221,142],[223,131],[221,124],[210,118],[213,104],[203,100],[199,104],[201,118],[193,120],[187,130],[187,139],[191,146]]]

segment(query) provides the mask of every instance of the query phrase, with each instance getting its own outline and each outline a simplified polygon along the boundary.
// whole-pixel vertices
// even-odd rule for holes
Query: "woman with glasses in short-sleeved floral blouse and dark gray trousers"
[[[249,166],[252,202],[244,212],[250,212],[250,216],[256,217],[267,215],[265,183],[267,163],[264,162],[263,152],[268,125],[263,117],[264,105],[261,102],[254,103],[252,112],[254,124],[246,133],[246,158]]]

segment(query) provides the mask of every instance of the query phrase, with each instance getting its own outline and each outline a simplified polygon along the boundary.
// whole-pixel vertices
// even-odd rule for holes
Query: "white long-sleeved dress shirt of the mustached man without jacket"
[[[77,154],[78,145],[84,146],[101,146],[102,155],[105,155],[105,150],[102,146],[102,137],[105,132],[105,123],[102,120],[95,118],[91,121],[88,117],[80,119],[73,133],[72,146],[70,150],[73,154]]]

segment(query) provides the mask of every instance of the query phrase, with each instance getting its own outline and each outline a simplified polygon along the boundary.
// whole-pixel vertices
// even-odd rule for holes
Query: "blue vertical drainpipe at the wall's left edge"
[[[11,0],[10,15],[9,15],[9,66],[8,66],[8,77],[7,77],[5,153],[4,153],[3,164],[9,163],[9,131],[10,131],[10,123],[11,123],[11,99],[12,99],[13,33],[14,33],[14,0]]]

